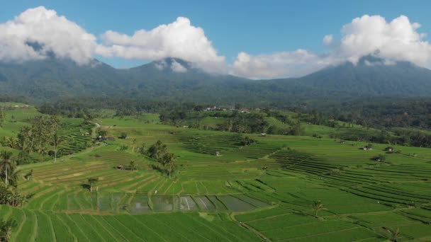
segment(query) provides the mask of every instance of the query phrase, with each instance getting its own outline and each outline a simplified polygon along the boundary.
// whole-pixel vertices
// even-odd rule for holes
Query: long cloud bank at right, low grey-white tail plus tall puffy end
[[[340,40],[325,35],[326,54],[296,50],[252,56],[241,52],[233,64],[233,74],[253,79],[302,76],[345,61],[357,64],[370,54],[384,59],[381,64],[408,61],[431,68],[431,45],[418,28],[420,24],[411,23],[406,16],[387,22],[382,16],[364,15],[342,27]]]

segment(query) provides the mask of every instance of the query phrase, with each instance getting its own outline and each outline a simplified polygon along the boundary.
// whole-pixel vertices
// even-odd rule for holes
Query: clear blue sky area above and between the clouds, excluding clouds
[[[250,55],[298,49],[328,52],[323,37],[341,38],[340,30],[352,19],[379,15],[391,21],[405,15],[421,24],[420,33],[431,33],[431,1],[7,1],[0,9],[0,23],[28,8],[45,6],[57,11],[99,38],[107,30],[133,35],[189,18],[201,27],[225,62],[235,62],[239,52]],[[428,38],[424,38],[427,40]],[[101,57],[114,67],[132,67],[145,60]]]

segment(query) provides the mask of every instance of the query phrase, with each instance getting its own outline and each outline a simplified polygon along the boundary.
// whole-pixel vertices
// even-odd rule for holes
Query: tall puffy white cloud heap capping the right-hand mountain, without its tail
[[[364,15],[343,26],[342,40],[335,52],[340,57],[357,62],[360,57],[374,54],[391,61],[409,61],[431,67],[431,46],[418,33],[419,23],[410,23],[406,16],[386,22],[381,16]]]

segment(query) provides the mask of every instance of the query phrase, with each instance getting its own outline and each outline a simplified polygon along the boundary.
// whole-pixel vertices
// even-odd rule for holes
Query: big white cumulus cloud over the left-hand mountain
[[[95,49],[94,35],[43,6],[0,23],[1,60],[22,62],[55,56],[87,64]]]

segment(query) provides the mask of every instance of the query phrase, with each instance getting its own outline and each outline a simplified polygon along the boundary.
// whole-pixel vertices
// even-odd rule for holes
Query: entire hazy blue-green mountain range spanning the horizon
[[[55,57],[0,62],[0,91],[30,100],[83,97],[139,98],[198,103],[286,103],[369,96],[431,96],[431,71],[409,62],[363,57],[298,79],[253,81],[208,74],[190,62],[166,58],[131,69],[94,59],[80,66]]]

